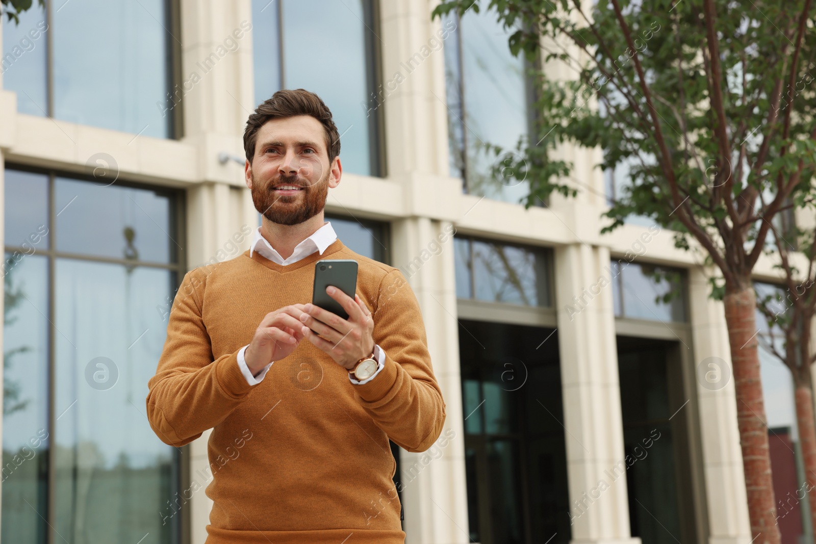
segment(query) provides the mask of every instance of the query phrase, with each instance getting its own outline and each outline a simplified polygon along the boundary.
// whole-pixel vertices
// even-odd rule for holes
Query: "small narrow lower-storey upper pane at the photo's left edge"
[[[48,176],[7,169],[5,184],[6,245],[23,246],[28,253],[46,249]]]

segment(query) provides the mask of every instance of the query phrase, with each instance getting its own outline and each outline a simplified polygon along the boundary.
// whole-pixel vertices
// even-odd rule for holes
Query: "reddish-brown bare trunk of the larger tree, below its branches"
[[[741,285],[747,287],[726,289],[723,302],[737,394],[739,443],[743,449],[751,536],[754,544],[780,544],[757,351],[756,295],[750,278]]]

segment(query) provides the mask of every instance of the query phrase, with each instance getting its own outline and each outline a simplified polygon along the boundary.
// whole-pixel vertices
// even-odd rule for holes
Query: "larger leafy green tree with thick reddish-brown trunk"
[[[530,181],[526,206],[577,193],[561,181],[561,144],[600,148],[600,167],[630,178],[602,232],[645,215],[719,269],[752,535],[778,544],[752,271],[779,210],[814,197],[812,1],[444,0],[433,15],[480,7],[497,11],[514,54],[574,71],[534,73],[539,144],[521,139],[515,160],[495,149]]]

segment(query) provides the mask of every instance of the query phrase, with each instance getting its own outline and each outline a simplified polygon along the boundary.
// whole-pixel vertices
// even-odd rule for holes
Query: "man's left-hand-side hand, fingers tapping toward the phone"
[[[295,351],[304,339],[299,318],[304,314],[303,304],[292,304],[269,312],[255,329],[255,336],[244,352],[246,366],[253,376],[273,360],[281,360]]]

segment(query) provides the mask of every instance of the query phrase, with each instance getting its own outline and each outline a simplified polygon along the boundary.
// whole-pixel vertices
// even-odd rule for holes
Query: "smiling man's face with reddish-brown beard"
[[[339,184],[339,157],[332,162],[326,131],[314,117],[268,121],[258,130],[252,165],[245,167],[255,209],[282,225],[311,219],[326,206],[329,188]]]

